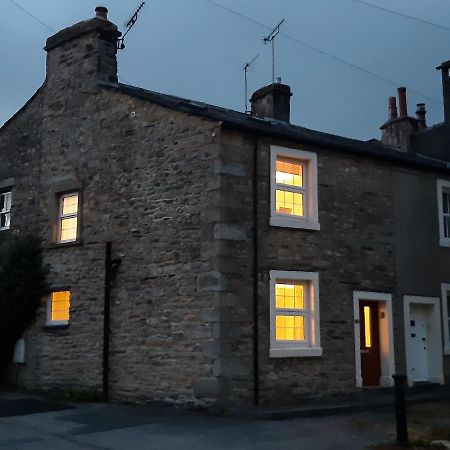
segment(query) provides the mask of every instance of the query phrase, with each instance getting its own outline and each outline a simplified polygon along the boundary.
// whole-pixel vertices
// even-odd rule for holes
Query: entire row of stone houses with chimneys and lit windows
[[[229,405],[448,382],[450,63],[444,123],[400,89],[362,142],[291,124],[281,83],[251,114],[118,83],[106,12],[47,40],[0,129],[0,244],[38,235],[53,291],[18,383]]]

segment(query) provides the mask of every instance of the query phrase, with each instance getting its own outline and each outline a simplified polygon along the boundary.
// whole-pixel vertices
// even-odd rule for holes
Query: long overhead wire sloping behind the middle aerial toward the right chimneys
[[[264,23],[258,22],[257,20],[253,19],[252,17],[249,17],[249,16],[247,16],[245,14],[242,14],[239,11],[236,11],[236,10],[234,10],[232,8],[229,8],[228,6],[224,6],[224,5],[220,4],[220,3],[217,3],[214,0],[204,0],[204,1],[207,2],[207,3],[210,3],[212,5],[215,5],[218,8],[224,9],[224,10],[228,11],[229,13],[234,14],[234,15],[236,15],[238,17],[241,17],[242,19],[245,19],[248,22],[254,23],[255,25],[258,25],[258,26],[260,26],[262,28],[265,28],[267,30],[271,30],[272,29],[272,27],[269,27],[269,26],[265,25]],[[327,56],[328,58],[334,59],[335,61],[338,61],[338,62],[340,62],[340,63],[342,63],[342,64],[344,64],[344,65],[346,65],[348,67],[351,67],[352,69],[358,70],[359,72],[362,72],[362,73],[364,73],[366,75],[370,75],[371,77],[376,78],[376,79],[378,79],[380,81],[384,81],[385,83],[389,83],[389,84],[391,84],[391,85],[393,85],[395,87],[400,86],[401,84],[403,84],[403,83],[399,83],[397,81],[391,80],[389,78],[386,78],[386,77],[384,77],[382,75],[379,75],[378,73],[372,72],[369,69],[365,69],[364,67],[358,66],[357,64],[354,64],[354,63],[352,63],[350,61],[347,61],[344,58],[341,58],[341,57],[336,56],[336,55],[334,55],[332,53],[329,53],[326,50],[322,50],[321,48],[316,47],[316,46],[314,46],[312,44],[309,44],[308,42],[301,41],[300,39],[294,38],[294,37],[292,37],[292,36],[290,36],[290,35],[288,35],[286,33],[280,33],[280,36],[283,36],[283,37],[285,37],[286,39],[289,39],[292,42],[295,42],[297,44],[302,45],[303,47],[307,47],[307,48],[309,48],[309,49],[311,49],[311,50],[313,50],[313,51],[315,51],[317,53],[320,53],[320,54],[322,54],[324,56]],[[409,89],[409,91],[413,92],[416,95],[419,95],[420,97],[422,97],[424,99],[430,100],[431,102],[442,104],[442,102],[440,100],[437,100],[437,99],[435,99],[433,97],[430,97],[430,96],[428,96],[426,94],[423,94],[422,92],[416,91],[416,90],[411,89],[411,88]]]

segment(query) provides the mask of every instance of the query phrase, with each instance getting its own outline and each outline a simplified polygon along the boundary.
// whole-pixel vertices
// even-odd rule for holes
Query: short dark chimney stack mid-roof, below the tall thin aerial
[[[291,96],[291,88],[287,84],[282,84],[281,78],[277,78],[276,83],[264,86],[252,95],[251,115],[289,122]]]

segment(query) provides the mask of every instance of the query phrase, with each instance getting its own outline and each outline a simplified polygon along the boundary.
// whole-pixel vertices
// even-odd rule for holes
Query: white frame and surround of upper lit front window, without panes
[[[276,182],[277,158],[289,158],[298,161],[303,166],[304,186],[290,187]],[[276,211],[276,190],[303,193],[304,216],[293,216]],[[270,225],[275,227],[303,228],[307,230],[320,230],[319,208],[317,194],[317,155],[305,150],[270,146]]]

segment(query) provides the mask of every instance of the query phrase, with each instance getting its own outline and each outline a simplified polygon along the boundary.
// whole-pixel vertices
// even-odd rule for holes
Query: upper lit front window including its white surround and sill
[[[271,147],[270,224],[319,230],[315,153]]]

